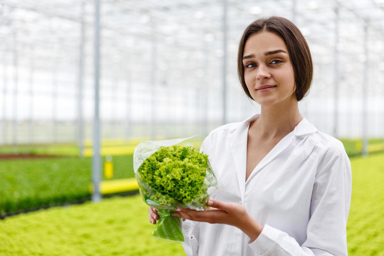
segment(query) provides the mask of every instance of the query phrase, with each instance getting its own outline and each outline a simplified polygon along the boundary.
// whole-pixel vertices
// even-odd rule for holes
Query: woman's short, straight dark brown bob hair
[[[248,91],[244,79],[243,54],[244,46],[248,37],[263,31],[275,32],[283,38],[290,55],[293,70],[295,72],[295,83],[297,101],[301,101],[310,89],[313,78],[313,63],[308,43],[298,27],[290,20],[283,17],[271,16],[253,21],[244,30],[240,39],[237,55],[237,73],[245,94],[253,99]],[[254,100],[254,99],[253,99]]]

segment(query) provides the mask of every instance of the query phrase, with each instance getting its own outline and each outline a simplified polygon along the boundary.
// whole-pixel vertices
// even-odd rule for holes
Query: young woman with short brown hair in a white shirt
[[[343,144],[298,110],[310,89],[311,53],[300,30],[282,17],[244,31],[238,75],[260,114],[209,133],[220,192],[210,208],[181,208],[187,255],[347,255],[351,163]],[[156,210],[149,208],[156,223]]]

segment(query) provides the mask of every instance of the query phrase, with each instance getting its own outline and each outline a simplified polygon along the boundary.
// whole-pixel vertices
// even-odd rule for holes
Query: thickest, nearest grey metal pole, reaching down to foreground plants
[[[92,158],[92,183],[93,194],[92,201],[98,202],[101,200],[100,194],[100,130],[99,130],[99,76],[100,76],[100,0],[94,0],[94,121],[93,121],[93,158]]]

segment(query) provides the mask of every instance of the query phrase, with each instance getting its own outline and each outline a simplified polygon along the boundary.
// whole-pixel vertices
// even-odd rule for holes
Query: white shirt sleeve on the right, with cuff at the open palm
[[[351,162],[343,143],[336,140],[319,154],[306,241],[300,245],[289,234],[266,224],[248,245],[260,256],[348,255],[346,225],[351,192]]]

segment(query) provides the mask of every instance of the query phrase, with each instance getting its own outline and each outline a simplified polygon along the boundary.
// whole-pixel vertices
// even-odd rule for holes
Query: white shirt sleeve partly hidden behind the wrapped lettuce
[[[210,143],[210,135],[208,135],[202,142],[200,152],[209,155],[212,161],[211,152],[212,144]],[[184,242],[182,246],[187,256],[197,256],[199,254],[199,236],[200,236],[200,222],[185,220],[182,221],[182,233],[184,235]]]

